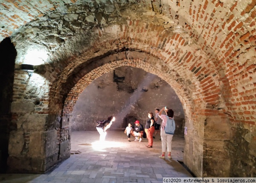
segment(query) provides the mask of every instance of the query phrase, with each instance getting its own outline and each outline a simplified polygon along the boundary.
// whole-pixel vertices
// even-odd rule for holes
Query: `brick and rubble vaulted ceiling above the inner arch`
[[[72,80],[69,91],[89,72],[81,69],[88,60],[125,49],[139,60],[134,51],[144,52],[154,71],[151,65],[138,67],[164,70],[162,77],[172,73],[176,83],[169,83],[183,104],[186,98],[203,99],[233,121],[255,124],[255,5],[256,0],[0,0],[0,40],[11,37],[16,64],[25,63],[33,49],[44,53],[34,65],[48,66],[44,72],[50,82],[57,80],[56,87]],[[113,62],[125,59],[127,54],[118,54]]]

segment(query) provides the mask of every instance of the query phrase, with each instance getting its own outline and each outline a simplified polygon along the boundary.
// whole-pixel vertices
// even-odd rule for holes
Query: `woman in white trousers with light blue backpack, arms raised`
[[[167,115],[162,114],[165,111]],[[161,126],[161,141],[162,141],[162,155],[161,159],[165,159],[166,145],[168,151],[168,158],[172,159],[172,137],[175,131],[175,121],[173,120],[173,110],[163,107],[159,112],[159,117],[163,120]]]

